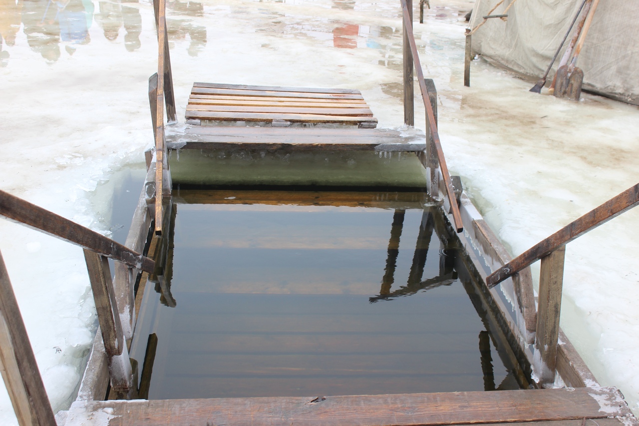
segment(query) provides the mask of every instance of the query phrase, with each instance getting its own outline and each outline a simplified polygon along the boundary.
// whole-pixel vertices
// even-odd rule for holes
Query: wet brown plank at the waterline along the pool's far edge
[[[197,191],[180,190],[175,203],[185,204],[266,204],[266,205],[334,205],[362,207],[421,208],[426,193],[314,192],[314,191]]]

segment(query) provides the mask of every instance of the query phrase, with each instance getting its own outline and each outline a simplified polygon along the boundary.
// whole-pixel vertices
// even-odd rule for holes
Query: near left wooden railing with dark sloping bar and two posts
[[[136,269],[153,272],[155,262],[100,233],[4,191],[0,191],[0,216],[84,249],[111,388],[116,395],[130,395],[135,386],[107,258],[127,265],[130,274]],[[0,367],[20,426],[56,425],[1,253]]]

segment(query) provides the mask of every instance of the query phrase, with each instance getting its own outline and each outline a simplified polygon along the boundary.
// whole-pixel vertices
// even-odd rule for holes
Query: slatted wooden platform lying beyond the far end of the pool
[[[187,105],[188,122],[289,125],[348,125],[374,128],[377,119],[362,93],[350,89],[311,89],[239,84],[194,83]]]

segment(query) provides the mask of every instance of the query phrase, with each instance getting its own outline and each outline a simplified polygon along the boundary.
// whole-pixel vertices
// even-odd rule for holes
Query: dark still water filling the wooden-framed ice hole
[[[520,387],[433,212],[173,209],[164,278],[146,286],[131,351],[142,367],[157,335],[149,398]]]

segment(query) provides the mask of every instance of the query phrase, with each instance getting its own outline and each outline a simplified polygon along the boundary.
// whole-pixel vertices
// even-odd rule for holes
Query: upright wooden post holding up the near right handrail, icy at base
[[[544,388],[555,382],[565,256],[566,246],[560,246],[550,255],[541,258],[537,310],[537,351],[541,356],[541,365],[537,366],[537,374],[539,384]]]

